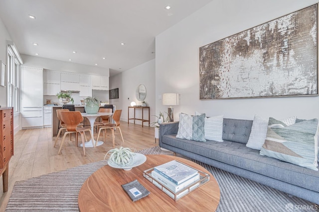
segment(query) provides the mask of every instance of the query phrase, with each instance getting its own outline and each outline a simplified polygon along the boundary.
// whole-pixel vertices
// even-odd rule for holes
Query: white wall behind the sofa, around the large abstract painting
[[[178,113],[253,119],[319,118],[319,96],[199,100],[199,47],[302,9],[317,0],[215,0],[156,37],[156,93],[180,93]],[[167,106],[156,100],[156,113]]]

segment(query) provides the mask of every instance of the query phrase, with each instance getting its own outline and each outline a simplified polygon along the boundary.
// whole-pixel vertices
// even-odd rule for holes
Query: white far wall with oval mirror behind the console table
[[[139,84],[146,86],[147,96],[145,101],[150,106],[152,123],[155,121],[155,117],[152,116],[155,115],[155,59],[110,77],[110,89],[119,88],[119,98],[110,99],[110,104],[116,105],[116,109],[122,109],[121,120],[127,122],[128,107],[131,106],[131,102],[135,101],[137,105],[142,104],[135,96]],[[131,111],[130,118],[132,118],[133,109]],[[144,116],[147,117],[146,112],[144,112]],[[142,118],[141,110],[136,110],[136,118]],[[141,121],[136,121],[136,124],[141,124]],[[145,122],[144,124],[148,123]]]

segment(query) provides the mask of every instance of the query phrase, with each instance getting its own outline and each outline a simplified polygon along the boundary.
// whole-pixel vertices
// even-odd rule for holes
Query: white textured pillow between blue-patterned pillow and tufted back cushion
[[[201,113],[195,111],[195,115],[200,115]],[[210,141],[222,142],[223,139],[223,122],[224,115],[205,117],[205,139]]]

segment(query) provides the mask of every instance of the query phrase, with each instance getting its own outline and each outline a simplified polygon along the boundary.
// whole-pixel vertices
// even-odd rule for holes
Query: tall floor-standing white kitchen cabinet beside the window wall
[[[43,69],[22,67],[22,129],[43,127]]]

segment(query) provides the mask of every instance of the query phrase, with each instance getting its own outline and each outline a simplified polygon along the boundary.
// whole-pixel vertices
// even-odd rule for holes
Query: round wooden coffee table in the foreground
[[[130,171],[112,168],[108,165],[94,172],[83,184],[78,204],[81,212],[101,211],[210,211],[217,209],[220,190],[216,179],[210,175],[210,180],[184,196],[177,202],[157,188],[143,176],[143,171],[171,160],[178,160],[200,171],[209,173],[202,166],[181,157],[170,155],[146,155],[147,160]],[[136,202],[133,202],[121,185],[137,179],[151,192]]]

